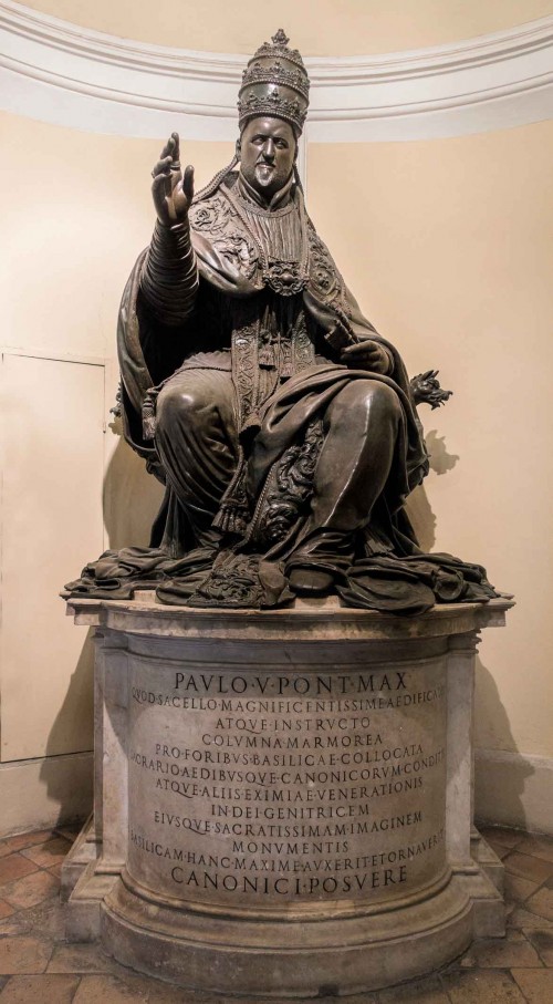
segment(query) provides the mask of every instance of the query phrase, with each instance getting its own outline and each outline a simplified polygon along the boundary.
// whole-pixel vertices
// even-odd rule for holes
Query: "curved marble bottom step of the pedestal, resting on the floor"
[[[427,975],[473,940],[504,934],[504,905],[481,869],[453,873],[414,905],[282,923],[159,904],[91,862],[67,903],[72,941],[95,941],[131,969],[226,994],[314,997]]]

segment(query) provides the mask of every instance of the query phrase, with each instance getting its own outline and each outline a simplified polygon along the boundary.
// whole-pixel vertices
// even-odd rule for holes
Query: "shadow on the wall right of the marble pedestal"
[[[480,824],[494,826],[514,826],[529,829],[523,795],[528,780],[535,770],[532,765],[519,757],[509,717],[501,703],[498,685],[477,656],[476,663],[477,700],[474,724],[478,736],[479,721],[486,718],[493,723],[493,733],[501,736],[501,751],[476,749],[474,760],[474,818]],[[488,729],[489,731],[489,729]]]

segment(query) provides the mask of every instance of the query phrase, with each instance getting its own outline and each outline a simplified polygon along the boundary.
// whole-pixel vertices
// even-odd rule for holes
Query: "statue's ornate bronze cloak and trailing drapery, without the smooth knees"
[[[415,614],[435,602],[497,596],[481,567],[418,548],[403,506],[425,477],[428,456],[407,373],[396,349],[377,334],[346,289],[305,216],[301,193],[296,190],[294,205],[298,234],[309,240],[305,275],[298,279],[291,267],[299,291],[280,296],[278,269],[271,265],[271,289],[243,222],[247,214],[241,209],[237,215],[236,197],[225,192],[229,186],[234,192],[234,184],[236,176],[229,175],[215,188],[208,186],[190,210],[199,286],[184,324],[164,323],[146,302],[140,289],[146,252],[123,294],[117,341],[124,434],[166,486],[150,547],[106,551],[66,588],[73,594],[114,599],[156,588],[166,603],[275,607],[293,601],[289,575],[303,563],[331,571],[342,602],[352,607]],[[262,237],[269,240],[264,230]],[[340,363],[344,344],[367,338],[385,350],[389,375]],[[271,383],[274,365],[281,369]],[[219,529],[209,540],[199,540],[156,444],[159,394],[175,374],[194,369],[227,372],[236,393],[237,429],[230,444],[238,458],[232,460],[236,476],[213,519]],[[392,389],[401,422],[371,521],[344,548],[332,532],[310,522],[310,478],[327,408],[355,381]],[[233,513],[229,505],[225,510],[229,495]]]

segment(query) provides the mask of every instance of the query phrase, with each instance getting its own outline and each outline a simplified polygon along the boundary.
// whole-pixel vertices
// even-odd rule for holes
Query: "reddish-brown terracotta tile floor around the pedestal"
[[[507,869],[507,938],[476,942],[428,980],[344,1004],[553,1004],[553,838],[483,832]],[[62,828],[0,841],[0,1004],[239,1004],[137,976],[96,945],[65,941],[60,862],[74,836]]]

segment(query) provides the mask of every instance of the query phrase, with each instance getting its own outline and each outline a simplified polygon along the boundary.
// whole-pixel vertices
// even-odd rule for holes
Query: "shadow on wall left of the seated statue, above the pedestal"
[[[118,443],[104,478],[108,546],[113,550],[147,547],[152,524],[161,505],[163,486],[146,472],[144,460],[125,442],[121,418],[115,418],[109,429],[118,436]]]

